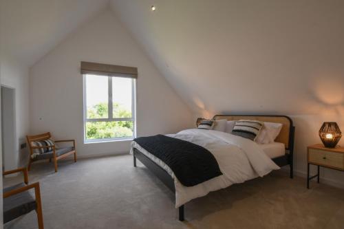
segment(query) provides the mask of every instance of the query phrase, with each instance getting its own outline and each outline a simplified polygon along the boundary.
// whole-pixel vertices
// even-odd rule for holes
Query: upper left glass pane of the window
[[[87,118],[108,118],[108,91],[107,77],[86,75]]]

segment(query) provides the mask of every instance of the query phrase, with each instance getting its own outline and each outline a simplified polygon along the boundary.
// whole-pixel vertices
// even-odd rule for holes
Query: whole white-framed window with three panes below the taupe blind
[[[135,138],[136,79],[83,74],[85,142]]]

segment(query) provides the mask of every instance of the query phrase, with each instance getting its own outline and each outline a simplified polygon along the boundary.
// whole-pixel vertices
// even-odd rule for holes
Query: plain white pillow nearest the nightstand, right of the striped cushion
[[[259,132],[256,142],[259,144],[269,144],[275,142],[275,139],[281,132],[283,124],[276,122],[264,122],[264,127]]]

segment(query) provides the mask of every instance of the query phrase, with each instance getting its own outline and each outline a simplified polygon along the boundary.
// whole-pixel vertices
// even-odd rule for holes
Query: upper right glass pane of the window
[[[131,89],[131,78],[112,78],[112,102],[114,118],[131,118]]]

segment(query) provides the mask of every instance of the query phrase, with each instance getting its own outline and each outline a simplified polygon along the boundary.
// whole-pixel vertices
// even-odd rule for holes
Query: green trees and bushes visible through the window
[[[87,107],[87,118],[108,118],[108,111],[107,103],[98,103],[92,107]],[[114,103],[113,113],[114,118],[131,118],[131,111],[116,103]],[[86,122],[86,138],[88,140],[132,136],[132,121]]]

